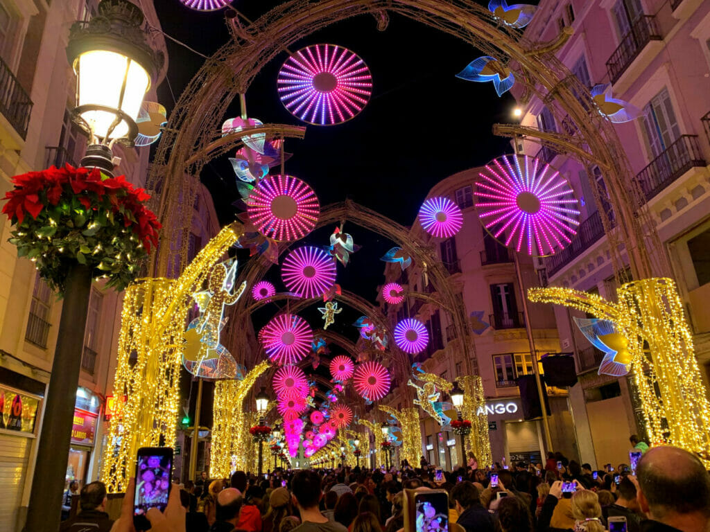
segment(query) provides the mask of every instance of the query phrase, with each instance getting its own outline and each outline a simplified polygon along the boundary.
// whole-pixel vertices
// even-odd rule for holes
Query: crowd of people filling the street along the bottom
[[[447,494],[449,532],[603,532],[619,517],[628,532],[710,530],[710,475],[680,448],[648,450],[636,475],[626,464],[593,471],[559,453],[545,464],[510,468],[479,467],[475,457],[451,472],[425,460],[420,466],[276,470],[262,477],[237,471],[228,480],[203,473],[174,485],[165,512],[148,511],[148,519],[160,532],[415,532],[414,525],[404,531],[404,490],[435,489]],[[86,523],[85,511],[103,519],[99,532],[133,532],[133,482],[113,528],[99,484],[82,488],[82,512],[62,532],[79,530],[72,526]]]

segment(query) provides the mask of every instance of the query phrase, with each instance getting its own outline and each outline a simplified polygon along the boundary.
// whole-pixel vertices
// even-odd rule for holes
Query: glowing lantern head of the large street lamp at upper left
[[[77,76],[74,114],[93,138],[133,141],[138,135],[143,96],[162,62],[148,46],[143,21],[135,4],[104,0],[97,16],[70,30],[67,59]]]

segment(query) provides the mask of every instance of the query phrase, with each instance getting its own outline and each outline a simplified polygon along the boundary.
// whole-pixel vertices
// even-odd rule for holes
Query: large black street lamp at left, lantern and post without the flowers
[[[67,59],[77,74],[77,107],[72,118],[89,134],[84,167],[113,176],[111,146],[129,145],[138,134],[136,118],[161,58],[143,31],[143,13],[127,0],[104,0],[99,16],[70,30]],[[92,267],[67,261],[64,303],[52,365],[42,433],[37,449],[26,531],[58,530],[69,455],[72,417],[79,384]]]

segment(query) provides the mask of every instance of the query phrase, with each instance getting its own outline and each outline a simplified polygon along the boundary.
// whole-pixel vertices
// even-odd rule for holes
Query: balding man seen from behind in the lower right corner
[[[706,532],[710,476],[702,462],[677,447],[649,449],[638,461],[636,500],[648,517],[643,532]]]

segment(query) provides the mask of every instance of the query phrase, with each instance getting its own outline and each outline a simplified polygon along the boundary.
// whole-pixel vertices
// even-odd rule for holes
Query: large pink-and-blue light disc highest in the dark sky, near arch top
[[[296,118],[314,126],[349,121],[372,94],[372,76],[356,54],[337,45],[302,48],[278,72],[281,103]]]

